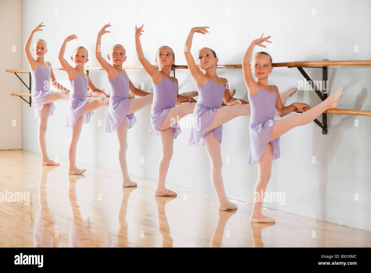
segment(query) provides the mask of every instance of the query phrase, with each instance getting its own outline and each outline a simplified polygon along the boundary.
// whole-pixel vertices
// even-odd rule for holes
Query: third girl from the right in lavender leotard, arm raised
[[[168,46],[161,46],[156,53],[158,69],[144,58],[139,36],[142,35],[143,25],[135,26],[135,45],[139,61],[145,71],[150,75],[153,85],[153,103],[150,115],[150,134],[160,136],[161,159],[158,163],[157,188],[155,196],[177,195],[174,191],[165,188],[165,179],[173,156],[174,139],[181,133],[178,122],[180,118],[193,112],[196,100],[178,94],[178,80],[170,77],[174,65],[174,51]],[[185,103],[175,107],[175,103]]]

